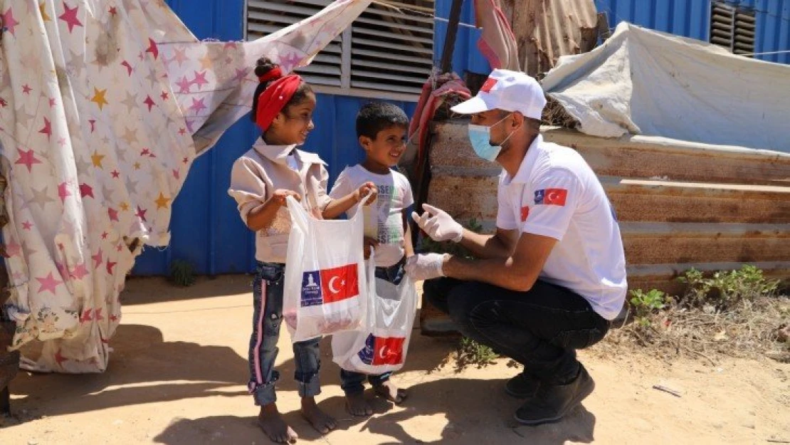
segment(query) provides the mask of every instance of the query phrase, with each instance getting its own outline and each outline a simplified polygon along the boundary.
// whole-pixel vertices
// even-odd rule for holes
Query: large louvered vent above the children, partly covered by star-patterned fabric
[[[331,0],[247,0],[246,35],[258,39],[320,11]],[[434,58],[434,0],[373,3],[298,70],[313,85],[350,96],[417,95]]]

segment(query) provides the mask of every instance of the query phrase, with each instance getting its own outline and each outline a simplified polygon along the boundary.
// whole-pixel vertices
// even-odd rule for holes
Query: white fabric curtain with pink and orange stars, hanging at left
[[[161,0],[0,0],[2,229],[36,367],[97,372],[142,243],[166,246],[194,158],[250,111],[255,60],[305,66],[371,0],[254,42],[201,42]]]

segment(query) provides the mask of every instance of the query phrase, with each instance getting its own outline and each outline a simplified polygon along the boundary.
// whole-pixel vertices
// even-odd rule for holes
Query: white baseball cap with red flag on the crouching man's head
[[[518,111],[540,120],[545,106],[546,97],[538,81],[518,71],[494,70],[477,96],[450,110],[461,115],[490,110]]]

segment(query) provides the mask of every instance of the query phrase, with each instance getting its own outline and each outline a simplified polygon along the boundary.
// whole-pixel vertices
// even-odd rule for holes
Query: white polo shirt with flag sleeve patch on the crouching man
[[[626,297],[620,228],[604,187],[575,150],[538,135],[512,178],[497,192],[498,228],[557,239],[540,279],[576,292],[604,319],[615,319]]]

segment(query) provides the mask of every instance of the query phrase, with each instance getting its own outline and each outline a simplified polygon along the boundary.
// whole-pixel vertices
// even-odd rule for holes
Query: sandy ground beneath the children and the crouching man
[[[174,288],[133,279],[124,293],[123,323],[100,375],[30,375],[12,383],[13,410],[0,443],[269,443],[254,424],[246,394],[250,277],[201,279]],[[512,420],[519,402],[503,391],[515,374],[506,360],[456,373],[436,370],[454,341],[415,331],[404,371],[393,379],[410,391],[375,414],[344,411],[338,368],[323,345],[319,405],[340,420],[320,436],[299,416],[289,377],[290,339],[280,337],[280,409],[300,443],[790,443],[790,365],[771,360],[672,363],[640,353],[581,353],[596,391],[559,424],[537,428]],[[654,385],[679,391],[675,397]],[[372,394],[369,394],[372,397]]]

